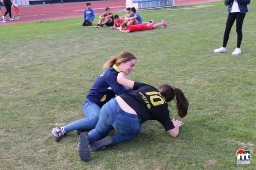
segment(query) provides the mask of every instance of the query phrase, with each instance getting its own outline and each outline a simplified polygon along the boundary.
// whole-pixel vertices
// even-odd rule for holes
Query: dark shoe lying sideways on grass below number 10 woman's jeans
[[[112,143],[113,143],[113,138],[111,136],[107,136],[99,141],[93,141],[89,143],[89,149],[90,151],[104,149],[105,147],[110,146]]]

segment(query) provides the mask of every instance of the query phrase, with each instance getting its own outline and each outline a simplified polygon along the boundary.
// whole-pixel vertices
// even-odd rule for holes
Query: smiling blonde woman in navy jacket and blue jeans
[[[53,128],[53,140],[57,142],[61,136],[73,130],[81,132],[81,130],[95,128],[99,119],[99,111],[105,103],[115,95],[132,92],[131,89],[119,84],[116,78],[120,71],[129,75],[134,70],[136,62],[137,58],[129,51],[122,51],[118,56],[108,60],[103,65],[103,68],[108,69],[99,75],[84,99],[83,111],[85,118],[76,120],[64,127]]]

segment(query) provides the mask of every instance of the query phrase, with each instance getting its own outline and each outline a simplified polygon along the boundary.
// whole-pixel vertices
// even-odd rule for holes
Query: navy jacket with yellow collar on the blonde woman
[[[132,92],[133,90],[126,89],[117,82],[116,78],[119,72],[119,68],[113,65],[113,67],[100,74],[88,92],[86,99],[90,99],[101,108],[116,95]]]

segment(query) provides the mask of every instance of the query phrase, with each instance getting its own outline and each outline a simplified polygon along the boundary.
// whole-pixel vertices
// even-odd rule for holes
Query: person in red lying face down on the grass
[[[137,24],[137,25],[127,25],[126,23],[123,23],[122,24],[122,28],[119,29],[120,32],[124,32],[124,33],[129,33],[129,32],[134,32],[134,31],[145,31],[145,30],[151,30],[151,29],[154,29],[154,28],[157,28],[159,26],[164,26],[164,27],[167,27],[165,21],[163,20],[161,23],[157,23],[157,24],[154,24],[154,26],[148,26],[148,25],[145,25],[145,24]]]

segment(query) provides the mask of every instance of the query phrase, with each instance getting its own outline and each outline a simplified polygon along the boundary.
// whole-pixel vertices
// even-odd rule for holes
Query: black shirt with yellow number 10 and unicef
[[[136,111],[141,124],[147,120],[157,120],[165,130],[175,128],[169,116],[167,102],[156,88],[142,82],[134,82],[133,90],[129,94],[119,96]]]

